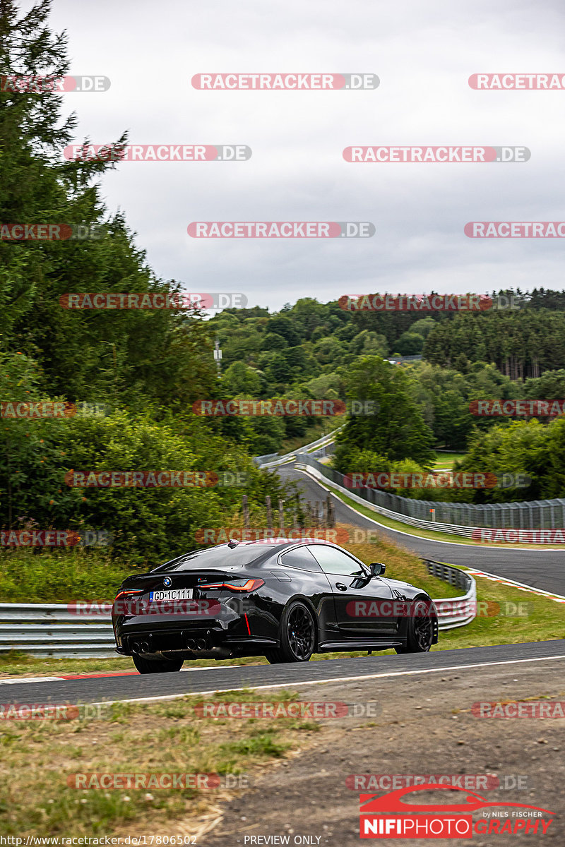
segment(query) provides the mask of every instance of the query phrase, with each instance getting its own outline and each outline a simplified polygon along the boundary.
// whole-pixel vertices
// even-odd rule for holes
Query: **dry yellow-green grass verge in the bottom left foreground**
[[[288,691],[269,701],[296,700]],[[218,698],[213,698],[218,699]],[[246,691],[221,700],[264,700]],[[307,746],[312,720],[200,717],[202,697],[102,706],[100,719],[3,721],[0,829],[15,836],[166,833],[197,839],[219,817],[219,801],[252,784],[253,773]],[[75,773],[213,773],[219,788],[75,789]],[[79,783],[84,784],[84,783]],[[86,783],[88,784],[88,783]],[[124,783],[122,783],[124,784]],[[127,784],[127,783],[125,783]],[[135,783],[134,783],[135,784]],[[138,783],[139,784],[139,783]],[[188,843],[177,841],[178,844]],[[198,840],[198,843],[199,840]]]

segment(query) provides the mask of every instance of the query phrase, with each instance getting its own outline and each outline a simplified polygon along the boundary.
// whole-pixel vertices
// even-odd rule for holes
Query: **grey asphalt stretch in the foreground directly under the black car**
[[[446,670],[515,664],[535,667],[544,659],[565,658],[565,640],[532,644],[472,647],[433,653],[363,656],[327,659],[287,665],[211,667],[191,673],[149,673],[123,677],[64,679],[45,682],[0,680],[2,703],[102,703],[104,701],[152,700],[208,694],[214,691],[296,687],[321,683],[344,683],[353,679],[391,682],[413,675],[433,675]],[[347,686],[344,691],[347,690]],[[320,700],[324,699],[320,690]]]

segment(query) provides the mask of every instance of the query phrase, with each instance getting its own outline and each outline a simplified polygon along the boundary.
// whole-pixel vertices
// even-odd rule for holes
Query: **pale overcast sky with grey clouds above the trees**
[[[23,3],[22,8],[28,4]],[[124,210],[155,273],[280,308],[370,291],[561,290],[563,240],[469,239],[472,220],[565,219],[565,91],[474,91],[479,72],[565,75],[554,0],[54,0],[76,141],[246,144],[246,162],[124,162]],[[198,91],[198,73],[374,73],[374,91]],[[346,163],[350,145],[523,145],[527,163]],[[191,221],[371,221],[367,239],[189,237]]]

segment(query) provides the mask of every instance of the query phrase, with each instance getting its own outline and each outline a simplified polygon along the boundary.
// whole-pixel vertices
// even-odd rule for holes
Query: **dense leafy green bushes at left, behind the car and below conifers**
[[[219,527],[241,510],[275,498],[282,485],[205,422],[156,422],[114,412],[108,417],[9,420],[0,458],[4,529],[93,529],[114,536],[111,555],[130,565],[156,564],[196,546],[202,527]],[[246,473],[246,486],[71,487],[70,471]],[[283,495],[284,496],[284,495]]]

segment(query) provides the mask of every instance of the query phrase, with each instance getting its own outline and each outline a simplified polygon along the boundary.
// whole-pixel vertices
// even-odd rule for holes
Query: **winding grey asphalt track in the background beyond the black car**
[[[277,468],[277,472],[281,479],[296,482],[309,501],[321,501],[327,496],[327,490],[322,485],[307,473],[296,470],[292,464]],[[565,551],[512,550],[509,547],[494,549],[485,545],[449,544],[418,538],[395,529],[380,525],[377,527],[369,518],[347,507],[331,490],[330,494],[338,523],[351,523],[364,529],[379,529],[380,533],[394,540],[396,544],[436,562],[478,567],[479,570],[496,573],[506,579],[514,579],[534,588],[565,595]]]

